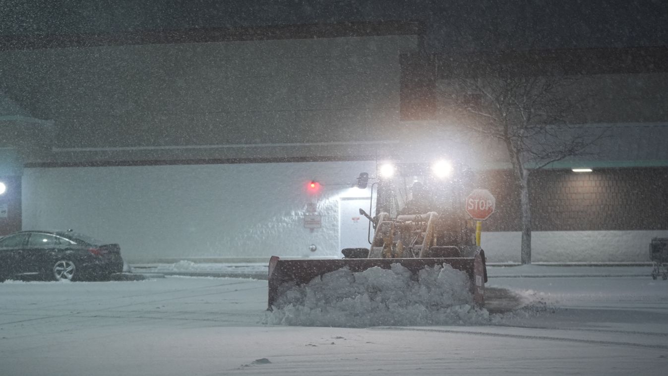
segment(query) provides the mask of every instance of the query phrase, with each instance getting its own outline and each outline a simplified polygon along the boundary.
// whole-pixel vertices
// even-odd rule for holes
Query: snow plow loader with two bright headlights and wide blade
[[[382,166],[377,182],[371,184],[369,248],[345,248],[341,259],[281,259],[269,261],[269,301],[272,310],[291,287],[341,268],[362,272],[369,268],[389,269],[393,264],[410,270],[417,278],[424,268],[450,265],[466,273],[470,293],[478,307],[484,305],[487,282],[484,251],[476,245],[476,225],[466,214],[464,200],[472,189],[472,176],[431,170],[424,164]],[[360,174],[357,186],[368,174]],[[375,189],[374,189],[375,188]],[[375,200],[374,200],[375,192]],[[373,237],[371,237],[373,226]]]

